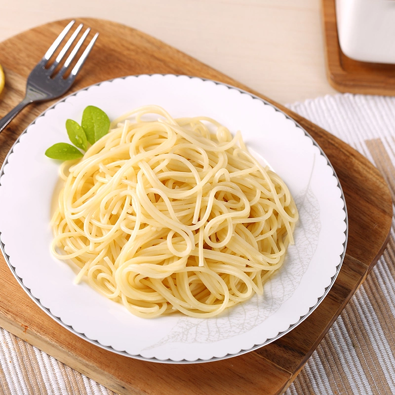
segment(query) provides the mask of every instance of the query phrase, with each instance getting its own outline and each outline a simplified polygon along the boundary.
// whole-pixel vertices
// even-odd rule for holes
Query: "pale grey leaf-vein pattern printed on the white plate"
[[[314,164],[315,161],[311,174]],[[307,186],[295,196],[300,216],[294,231],[295,244],[289,246],[284,264],[265,284],[264,296],[255,295],[217,317],[180,317],[166,336],[145,350],[167,343],[212,343],[237,336],[266,320],[291,297],[313,258],[321,230],[319,202],[310,180],[311,177]]]

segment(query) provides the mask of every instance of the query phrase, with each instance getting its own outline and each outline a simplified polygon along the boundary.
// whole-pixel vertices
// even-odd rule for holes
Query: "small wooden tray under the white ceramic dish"
[[[359,62],[342,52],[335,0],[322,0],[322,19],[329,83],[340,92],[395,95],[395,64]]]

